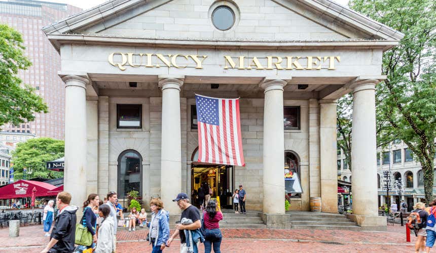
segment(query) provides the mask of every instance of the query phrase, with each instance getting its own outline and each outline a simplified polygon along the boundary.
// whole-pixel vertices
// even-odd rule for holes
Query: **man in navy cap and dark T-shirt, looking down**
[[[198,246],[202,242],[200,212],[197,207],[191,205],[186,193],[179,193],[172,201],[176,201],[178,207],[183,210],[180,221],[175,225],[176,230],[167,241],[170,246],[174,238],[180,236],[180,253],[198,252]],[[187,238],[188,235],[188,238]]]

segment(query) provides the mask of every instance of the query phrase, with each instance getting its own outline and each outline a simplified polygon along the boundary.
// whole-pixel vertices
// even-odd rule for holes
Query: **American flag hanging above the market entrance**
[[[245,166],[239,99],[195,96],[198,161]]]

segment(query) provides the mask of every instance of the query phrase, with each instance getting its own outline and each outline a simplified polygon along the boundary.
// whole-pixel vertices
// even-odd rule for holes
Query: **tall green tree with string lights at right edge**
[[[378,116],[385,118],[421,163],[427,202],[433,199],[436,137],[436,2],[432,0],[352,0],[350,7],[405,33],[384,53],[377,86]]]

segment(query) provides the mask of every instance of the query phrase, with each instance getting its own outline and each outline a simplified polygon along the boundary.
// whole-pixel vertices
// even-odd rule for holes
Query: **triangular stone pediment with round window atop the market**
[[[52,24],[44,31],[47,34],[248,41],[398,40],[403,36],[331,0],[235,0],[231,3],[235,7],[235,24],[221,31],[214,27],[211,19],[213,9],[219,5],[220,1],[214,0],[114,0]]]

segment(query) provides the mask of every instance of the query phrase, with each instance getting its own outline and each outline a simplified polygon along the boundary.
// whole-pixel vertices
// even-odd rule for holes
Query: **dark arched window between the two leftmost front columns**
[[[142,194],[142,157],[135,150],[126,150],[118,157],[118,197],[124,198],[132,190]]]

